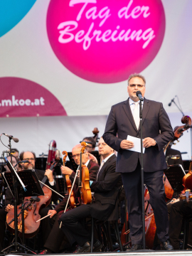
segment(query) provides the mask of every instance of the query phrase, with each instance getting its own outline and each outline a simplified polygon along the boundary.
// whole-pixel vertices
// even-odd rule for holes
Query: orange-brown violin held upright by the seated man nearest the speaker
[[[81,142],[82,149],[80,151],[80,178],[79,178],[79,188],[80,195],[84,204],[92,203],[92,194],[90,189],[90,172],[87,166],[82,165],[82,154],[85,151],[87,144]]]

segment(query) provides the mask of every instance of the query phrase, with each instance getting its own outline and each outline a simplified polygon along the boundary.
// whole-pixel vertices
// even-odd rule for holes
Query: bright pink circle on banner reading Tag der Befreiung
[[[161,0],[50,0],[47,14],[58,60],[100,83],[142,72],[161,48],[165,25]]]

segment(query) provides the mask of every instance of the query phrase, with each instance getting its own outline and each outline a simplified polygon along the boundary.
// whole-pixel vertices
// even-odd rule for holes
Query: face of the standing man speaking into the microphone
[[[136,95],[136,92],[139,90],[140,92],[142,92],[142,97],[144,97],[144,93],[145,93],[145,86],[143,87],[132,87],[130,85],[144,85],[144,80],[142,80],[142,78],[132,78],[129,81],[129,85],[127,86],[127,92],[129,93],[129,97],[134,101],[137,102],[139,100],[139,98]]]

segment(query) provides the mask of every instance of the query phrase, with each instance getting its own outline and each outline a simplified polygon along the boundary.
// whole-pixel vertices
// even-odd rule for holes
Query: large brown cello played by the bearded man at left
[[[54,162],[50,166],[50,170],[53,170],[57,162]],[[48,177],[44,176],[42,182],[46,183]],[[36,222],[41,218],[39,215],[39,210],[42,207],[46,207],[50,204],[52,192],[46,186],[41,184],[44,196],[28,196],[23,199],[24,208],[24,237],[33,238],[34,235],[38,233],[40,227],[40,221]],[[40,200],[39,200],[40,199]],[[22,235],[22,215],[21,215],[21,204],[17,206],[17,216],[18,216],[18,235]],[[9,210],[6,215],[7,228],[11,233],[14,233],[14,208]]]

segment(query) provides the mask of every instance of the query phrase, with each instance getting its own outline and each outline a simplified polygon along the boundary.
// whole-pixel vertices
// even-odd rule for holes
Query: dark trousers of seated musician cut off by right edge
[[[179,250],[179,235],[181,233],[183,218],[192,215],[192,202],[179,201],[171,205],[169,216],[169,236],[174,250]],[[188,244],[192,245],[192,223],[189,223]]]

